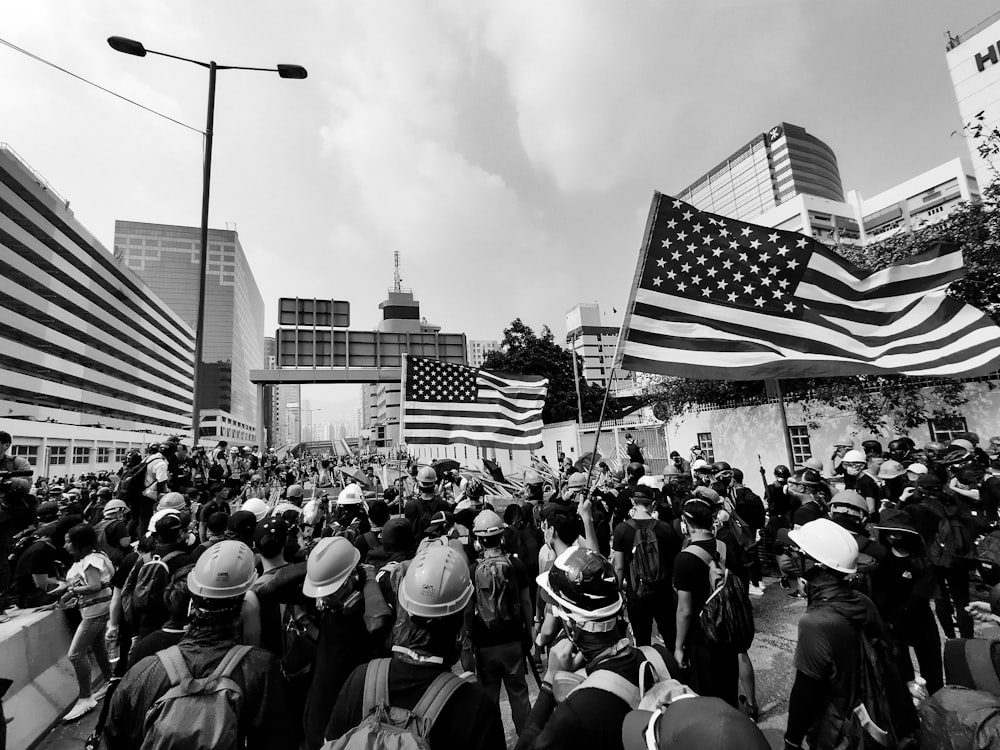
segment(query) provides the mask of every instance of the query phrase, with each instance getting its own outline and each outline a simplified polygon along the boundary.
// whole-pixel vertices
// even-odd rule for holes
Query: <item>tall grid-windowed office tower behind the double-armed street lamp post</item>
[[[192,328],[198,316],[201,230],[115,222],[115,257]],[[208,285],[200,406],[204,437],[256,441],[257,391],[250,370],[264,356],[264,300],[235,231],[208,233]]]

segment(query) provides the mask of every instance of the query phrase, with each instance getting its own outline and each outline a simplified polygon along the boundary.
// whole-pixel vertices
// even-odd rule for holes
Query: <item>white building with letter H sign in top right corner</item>
[[[976,126],[982,126],[984,134],[1000,126],[1000,13],[962,34],[949,34],[945,59],[962,124],[966,126],[964,135],[973,171],[980,187],[986,187],[996,176],[1000,162],[995,156],[980,154],[978,147],[985,141],[972,135]]]

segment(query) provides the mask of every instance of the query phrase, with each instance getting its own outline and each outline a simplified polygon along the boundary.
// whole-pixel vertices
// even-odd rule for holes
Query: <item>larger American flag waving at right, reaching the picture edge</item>
[[[1000,367],[1000,328],[946,295],[962,275],[957,246],[863,271],[796,232],[657,193],[618,358],[717,380],[985,374]]]

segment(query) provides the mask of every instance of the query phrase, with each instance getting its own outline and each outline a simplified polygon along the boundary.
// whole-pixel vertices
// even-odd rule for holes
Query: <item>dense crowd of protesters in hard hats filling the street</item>
[[[538,462],[511,497],[460,467],[389,481],[377,456],[177,440],[33,482],[11,442],[4,602],[72,618],[65,720],[103,701],[109,748],[506,748],[502,692],[517,748],[766,748],[749,649],[771,565],[805,602],[785,747],[863,747],[859,705],[917,736],[938,623],[971,639],[991,614],[970,577],[1000,584],[1000,440],[972,433],[845,438],[762,495],[697,448],[653,475],[631,440],[625,466]],[[894,687],[908,709],[879,727]]]

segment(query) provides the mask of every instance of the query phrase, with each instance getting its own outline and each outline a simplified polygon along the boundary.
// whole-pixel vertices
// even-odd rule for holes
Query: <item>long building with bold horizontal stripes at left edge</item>
[[[69,206],[0,144],[0,416],[189,431],[191,326]]]

